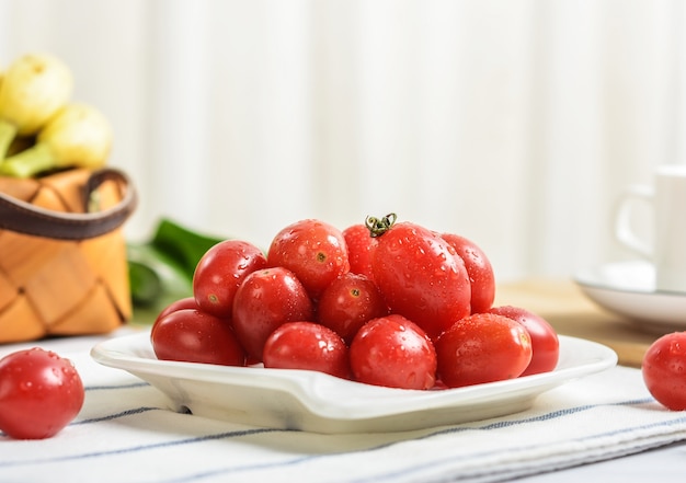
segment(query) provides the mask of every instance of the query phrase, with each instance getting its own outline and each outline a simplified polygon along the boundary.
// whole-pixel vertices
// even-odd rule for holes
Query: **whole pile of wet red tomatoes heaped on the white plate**
[[[559,341],[537,314],[493,307],[495,280],[470,240],[395,215],[343,230],[283,228],[268,250],[209,249],[193,297],[157,318],[159,359],[308,369],[402,389],[456,388],[554,369]]]

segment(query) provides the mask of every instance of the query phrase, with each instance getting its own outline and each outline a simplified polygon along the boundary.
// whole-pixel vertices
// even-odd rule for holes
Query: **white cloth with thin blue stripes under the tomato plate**
[[[117,335],[117,334],[115,334]],[[99,337],[41,345],[69,357],[87,388],[83,410],[57,436],[0,434],[0,482],[443,482],[503,481],[686,439],[640,371],[616,367],[540,395],[529,411],[395,434],[320,435],[243,426],[169,411],[136,377],[89,356]]]

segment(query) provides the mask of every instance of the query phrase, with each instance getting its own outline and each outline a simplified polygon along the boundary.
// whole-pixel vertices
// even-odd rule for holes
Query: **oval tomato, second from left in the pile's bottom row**
[[[350,379],[347,346],[339,334],[315,322],[288,322],[264,343],[264,367],[307,369]]]

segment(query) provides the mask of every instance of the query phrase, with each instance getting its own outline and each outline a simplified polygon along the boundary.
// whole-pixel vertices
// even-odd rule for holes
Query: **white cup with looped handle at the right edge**
[[[639,203],[651,208],[652,242],[633,228]],[[663,164],[652,186],[632,185],[622,194],[615,225],[617,240],[655,267],[655,289],[686,294],[686,164]]]

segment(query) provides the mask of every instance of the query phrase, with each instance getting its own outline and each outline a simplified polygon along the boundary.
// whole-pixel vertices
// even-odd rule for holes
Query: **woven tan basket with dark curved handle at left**
[[[0,343],[110,332],[132,315],[121,171],[0,176]]]

